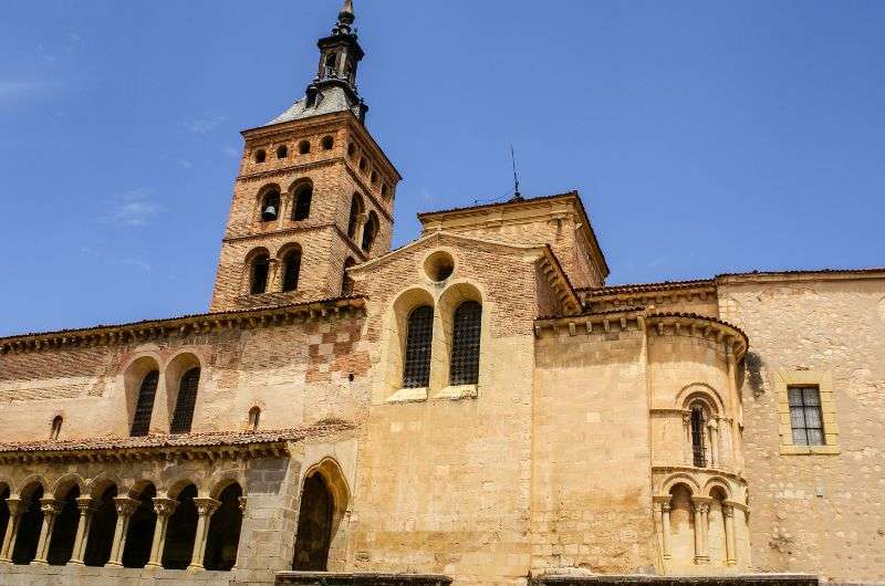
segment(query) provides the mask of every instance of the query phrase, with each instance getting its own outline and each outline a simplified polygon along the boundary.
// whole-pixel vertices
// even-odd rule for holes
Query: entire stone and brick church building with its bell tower
[[[209,313],[0,338],[0,583],[885,582],[885,270],[606,286],[576,192],[391,250],[353,22]]]

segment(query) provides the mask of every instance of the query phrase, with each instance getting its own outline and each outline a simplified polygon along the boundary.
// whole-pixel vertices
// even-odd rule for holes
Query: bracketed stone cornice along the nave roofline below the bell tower
[[[350,296],[305,301],[273,307],[186,315],[119,325],[100,325],[82,329],[22,334],[0,338],[0,355],[19,352],[108,346],[160,339],[169,336],[205,334],[226,329],[249,329],[293,324],[327,315],[362,312],[365,297]]]

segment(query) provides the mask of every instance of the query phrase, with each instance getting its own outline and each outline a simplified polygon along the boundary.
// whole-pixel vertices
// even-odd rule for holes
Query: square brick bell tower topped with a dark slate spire
[[[346,0],[304,97],[244,130],[212,312],[350,294],[345,268],[391,249],[399,172],[365,127]]]

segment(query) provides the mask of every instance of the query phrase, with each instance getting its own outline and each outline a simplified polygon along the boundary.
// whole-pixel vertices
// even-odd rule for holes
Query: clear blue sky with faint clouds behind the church
[[[885,265],[885,2],[355,0],[419,210],[579,189],[611,284]],[[0,334],[207,310],[239,132],[339,0],[0,7]]]

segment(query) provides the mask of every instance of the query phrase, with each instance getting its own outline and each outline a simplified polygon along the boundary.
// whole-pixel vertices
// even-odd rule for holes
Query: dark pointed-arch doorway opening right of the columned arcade
[[[325,572],[332,543],[334,500],[323,475],[314,472],[304,480],[298,515],[295,555],[292,569]]]

